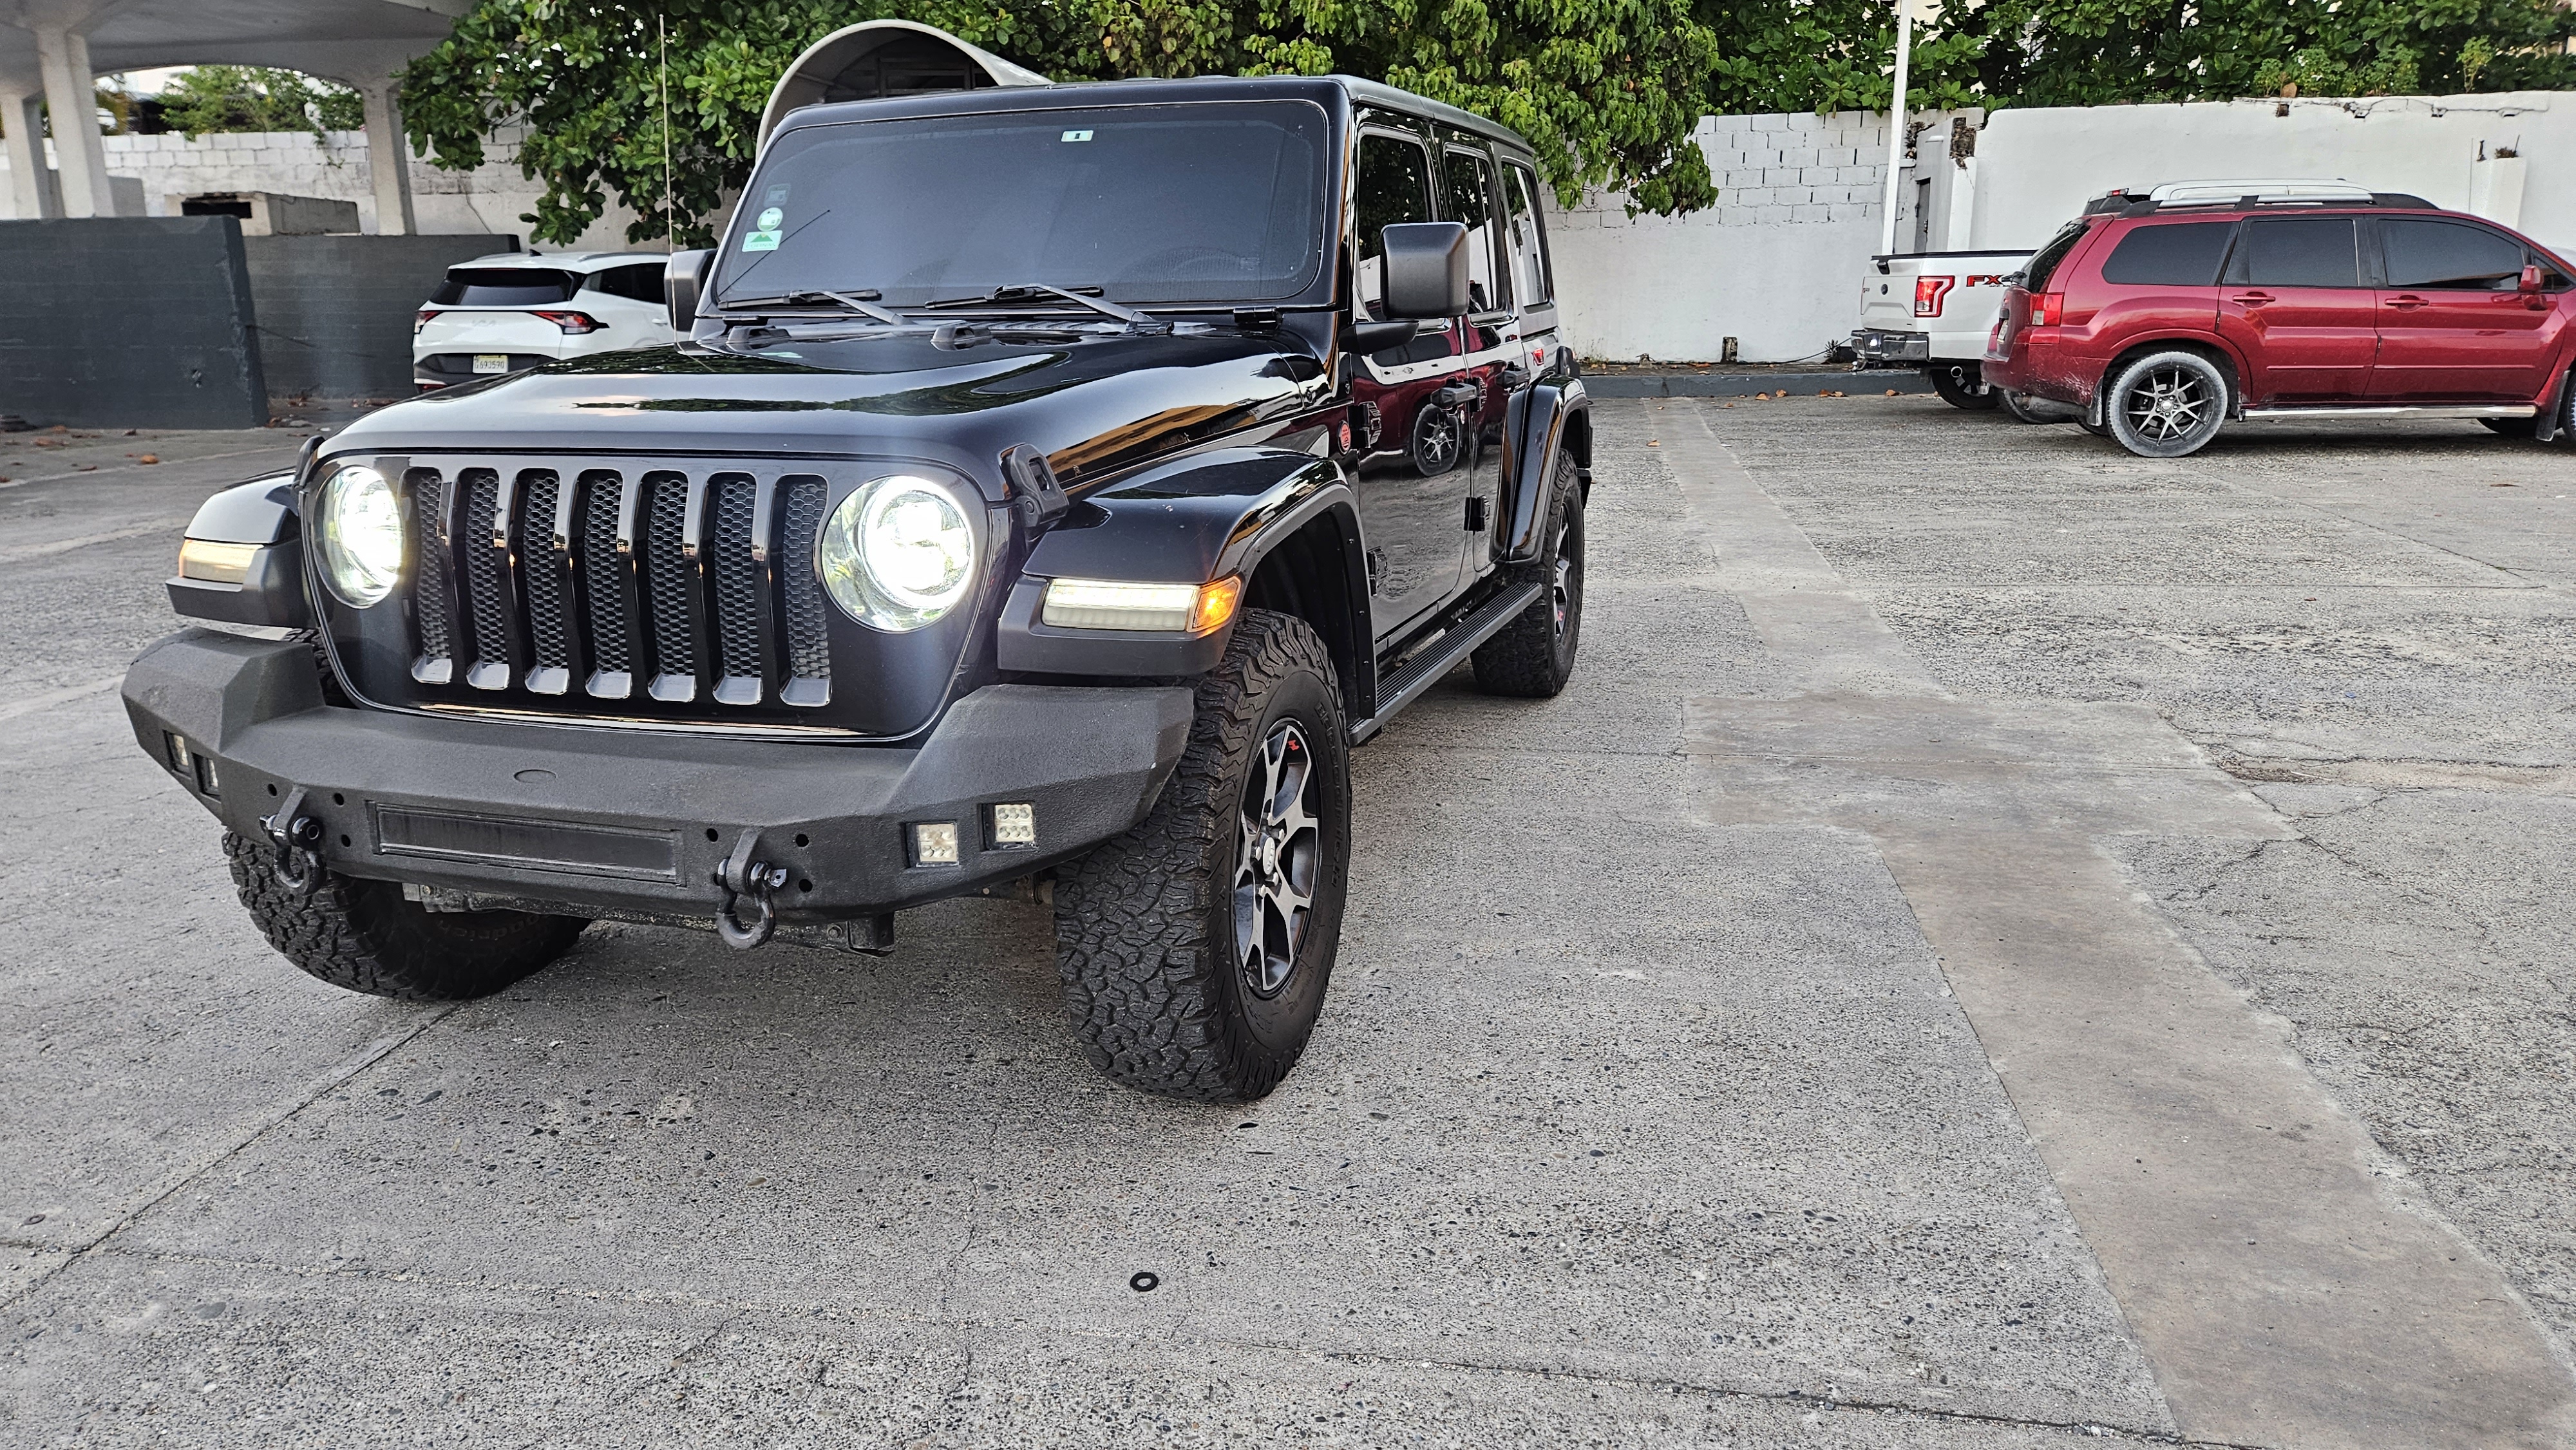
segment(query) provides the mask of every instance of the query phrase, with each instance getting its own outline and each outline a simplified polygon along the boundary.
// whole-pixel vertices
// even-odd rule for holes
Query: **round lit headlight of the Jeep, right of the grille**
[[[814,567],[850,618],[904,634],[933,623],[974,585],[974,523],[930,479],[871,479],[822,525]]]

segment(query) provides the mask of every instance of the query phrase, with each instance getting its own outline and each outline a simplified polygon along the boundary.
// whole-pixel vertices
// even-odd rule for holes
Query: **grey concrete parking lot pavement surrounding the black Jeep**
[[[464,1007],[299,976],[90,688],[167,628],[139,528],[294,438],[62,448],[0,487],[0,1427],[2568,1442],[2571,456],[2143,466],[1917,397],[1600,435],[1577,685],[1461,675],[1355,755],[1327,1020],[1249,1110],[1092,1079],[999,901],[873,966],[592,927]],[[2190,1053],[2069,1035],[2123,974]],[[2174,1203],[2293,1244],[2159,1259]],[[2311,1295],[2352,1226],[2360,1313]]]

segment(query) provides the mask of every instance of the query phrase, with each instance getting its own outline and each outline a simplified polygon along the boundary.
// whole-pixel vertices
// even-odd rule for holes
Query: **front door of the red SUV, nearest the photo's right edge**
[[[2370,394],[2530,402],[2558,348],[2553,299],[2519,291],[2537,263],[2517,237],[2434,216],[2383,216],[2380,355]],[[2537,301],[2540,306],[2532,306]]]

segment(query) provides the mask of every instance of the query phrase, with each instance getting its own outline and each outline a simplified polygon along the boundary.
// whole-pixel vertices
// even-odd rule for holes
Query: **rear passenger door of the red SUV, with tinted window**
[[[2249,219],[2218,288],[2218,332],[2246,358],[2246,399],[2365,397],[2378,304],[2354,216]]]

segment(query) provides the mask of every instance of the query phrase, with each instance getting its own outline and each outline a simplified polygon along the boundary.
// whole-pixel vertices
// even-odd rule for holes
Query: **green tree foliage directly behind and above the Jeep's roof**
[[[466,170],[523,121],[520,170],[546,183],[526,221],[544,242],[580,237],[611,196],[641,216],[629,240],[662,240],[667,144],[667,229],[708,245],[770,85],[811,41],[878,18],[1064,80],[1370,75],[1522,131],[1566,201],[1613,185],[1669,214],[1716,196],[1690,126],[1718,49],[1687,0],[489,0],[404,72],[404,124],[435,165]]]

